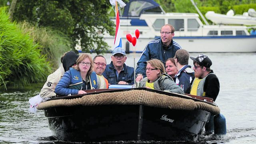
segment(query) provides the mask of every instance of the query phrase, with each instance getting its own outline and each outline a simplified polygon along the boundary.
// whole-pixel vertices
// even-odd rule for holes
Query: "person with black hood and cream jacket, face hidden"
[[[47,80],[40,91],[40,97],[46,98],[50,96],[56,96],[54,92],[56,85],[69,68],[76,66],[76,60],[78,54],[73,51],[65,52],[64,55],[60,58],[61,65],[54,73],[50,74],[47,77]]]

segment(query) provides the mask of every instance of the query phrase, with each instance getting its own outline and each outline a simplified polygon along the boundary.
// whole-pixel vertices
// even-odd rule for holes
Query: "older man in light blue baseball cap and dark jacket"
[[[127,57],[123,48],[114,48],[110,64],[107,64],[103,76],[109,84],[134,84],[134,68],[126,66]]]

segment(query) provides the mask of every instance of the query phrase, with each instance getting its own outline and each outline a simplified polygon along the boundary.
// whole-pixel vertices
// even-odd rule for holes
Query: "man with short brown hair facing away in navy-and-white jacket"
[[[175,75],[175,82],[184,90],[185,94],[190,93],[190,87],[195,78],[194,70],[188,65],[188,59],[189,53],[184,49],[177,50],[175,53],[174,61],[179,70]]]

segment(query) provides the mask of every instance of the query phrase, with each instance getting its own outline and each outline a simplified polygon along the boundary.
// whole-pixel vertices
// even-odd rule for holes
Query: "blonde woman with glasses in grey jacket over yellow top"
[[[176,85],[168,74],[165,74],[164,64],[160,60],[148,60],[145,70],[147,77],[141,80],[142,87],[184,94],[182,88]]]

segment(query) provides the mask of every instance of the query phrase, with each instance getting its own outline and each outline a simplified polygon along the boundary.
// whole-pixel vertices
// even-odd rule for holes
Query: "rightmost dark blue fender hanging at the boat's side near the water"
[[[226,118],[223,114],[214,116],[214,134],[227,134]]]

